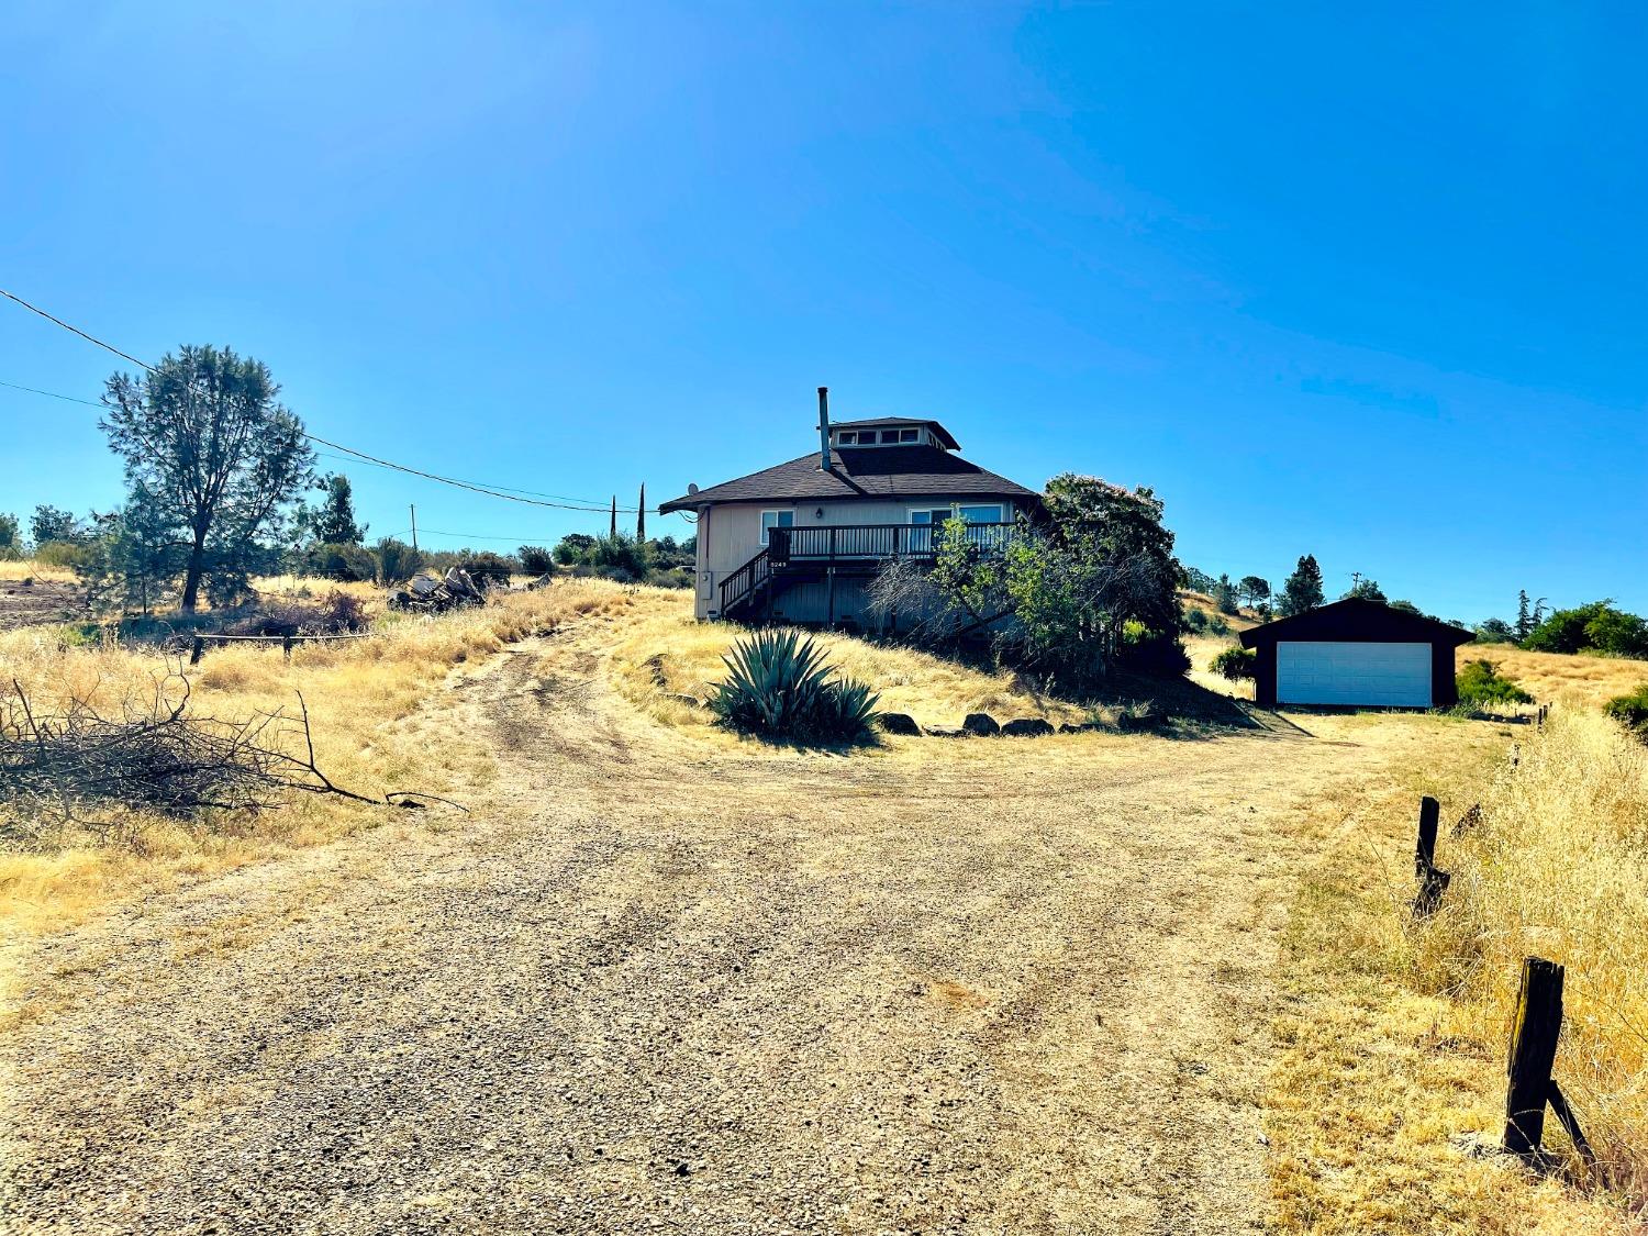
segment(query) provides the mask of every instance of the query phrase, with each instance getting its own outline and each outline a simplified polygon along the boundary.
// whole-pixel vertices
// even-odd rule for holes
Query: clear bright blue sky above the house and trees
[[[508,486],[672,498],[829,384],[1215,574],[1648,610],[1640,7],[252,8],[8,5],[0,285]],[[114,368],[0,305],[0,381]],[[0,387],[0,511],[112,506],[94,422]],[[605,522],[321,463],[374,536]]]

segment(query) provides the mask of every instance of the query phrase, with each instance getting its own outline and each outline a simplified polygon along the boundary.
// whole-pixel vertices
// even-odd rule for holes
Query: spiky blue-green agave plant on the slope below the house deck
[[[796,631],[760,631],[722,661],[727,679],[709,707],[730,728],[794,742],[854,742],[875,720],[880,697],[864,682],[834,677],[819,646]]]

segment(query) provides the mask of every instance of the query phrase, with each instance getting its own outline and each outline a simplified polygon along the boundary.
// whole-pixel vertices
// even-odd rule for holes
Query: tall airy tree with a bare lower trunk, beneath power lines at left
[[[247,587],[277,541],[315,453],[269,368],[227,348],[185,346],[140,376],[114,374],[102,428],[125,463],[127,509],[183,542],[180,608]]]

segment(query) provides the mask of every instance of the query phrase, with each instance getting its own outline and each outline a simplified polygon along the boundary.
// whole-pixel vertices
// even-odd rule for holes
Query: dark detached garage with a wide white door
[[[1241,633],[1254,649],[1254,700],[1374,709],[1458,702],[1454,649],[1473,633],[1351,598]]]

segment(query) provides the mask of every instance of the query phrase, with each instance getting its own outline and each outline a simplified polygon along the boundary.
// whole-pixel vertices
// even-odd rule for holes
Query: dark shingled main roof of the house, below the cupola
[[[860,422],[870,424],[870,422]],[[929,422],[921,422],[929,424]],[[691,511],[710,503],[793,503],[842,498],[1018,498],[1040,499],[1035,489],[967,463],[926,443],[911,447],[837,447],[831,470],[819,468],[817,452],[725,485],[682,494],[659,514]]]

